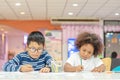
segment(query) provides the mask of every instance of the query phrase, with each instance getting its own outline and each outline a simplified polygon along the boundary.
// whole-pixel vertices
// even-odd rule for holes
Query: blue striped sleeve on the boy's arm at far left
[[[19,67],[20,67],[20,55],[18,54],[17,56],[15,56],[12,60],[9,60],[8,62],[6,62],[3,65],[2,70],[3,71],[9,71],[9,72],[14,72],[14,71],[18,71]]]

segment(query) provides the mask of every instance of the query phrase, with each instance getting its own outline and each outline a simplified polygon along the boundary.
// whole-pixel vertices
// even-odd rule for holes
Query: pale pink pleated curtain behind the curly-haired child
[[[103,27],[98,25],[62,25],[63,42],[68,38],[76,38],[82,32],[91,32],[98,34],[103,39]]]

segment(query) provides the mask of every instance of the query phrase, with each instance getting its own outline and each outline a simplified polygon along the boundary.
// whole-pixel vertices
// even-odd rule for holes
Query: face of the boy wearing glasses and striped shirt
[[[34,59],[40,57],[43,48],[44,48],[43,44],[38,44],[37,42],[33,42],[33,41],[31,41],[30,44],[27,45],[28,54]]]

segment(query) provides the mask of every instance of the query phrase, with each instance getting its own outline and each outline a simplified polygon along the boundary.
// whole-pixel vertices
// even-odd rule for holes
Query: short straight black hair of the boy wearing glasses
[[[40,31],[33,31],[29,34],[27,38],[27,45],[30,44],[31,41],[37,42],[38,44],[45,44],[45,38]]]

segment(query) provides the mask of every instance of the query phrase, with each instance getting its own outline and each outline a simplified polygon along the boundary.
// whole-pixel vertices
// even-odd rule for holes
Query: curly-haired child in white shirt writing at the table
[[[78,35],[75,42],[79,53],[70,56],[64,65],[65,72],[92,71],[103,72],[105,66],[101,59],[97,58],[102,53],[103,45],[98,35],[84,32]]]

